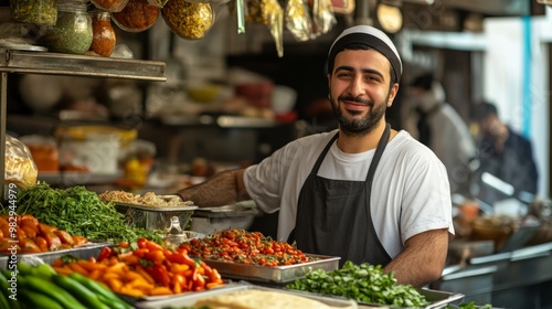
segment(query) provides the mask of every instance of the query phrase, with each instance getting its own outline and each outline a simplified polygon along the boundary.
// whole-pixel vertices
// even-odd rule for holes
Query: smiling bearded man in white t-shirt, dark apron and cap
[[[448,179],[427,147],[385,121],[401,75],[401,57],[383,32],[347,29],[328,54],[338,129],[179,194],[200,206],[253,199],[266,213],[279,210],[278,238],[305,253],[382,265],[400,284],[438,279],[454,235]]]

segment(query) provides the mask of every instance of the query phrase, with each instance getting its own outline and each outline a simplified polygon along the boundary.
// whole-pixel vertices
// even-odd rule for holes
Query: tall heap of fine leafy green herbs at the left
[[[41,223],[92,241],[118,243],[146,237],[161,242],[153,231],[128,225],[113,203],[104,203],[97,193],[82,185],[62,190],[39,182],[18,191],[17,204],[18,214],[32,214]],[[9,209],[0,212],[8,213]]]

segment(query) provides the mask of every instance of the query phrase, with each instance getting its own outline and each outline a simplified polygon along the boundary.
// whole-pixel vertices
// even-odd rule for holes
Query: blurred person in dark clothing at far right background
[[[478,125],[478,199],[492,205],[510,198],[482,183],[485,172],[512,185],[514,196],[519,196],[521,192],[537,194],[539,173],[531,140],[502,122],[496,105],[489,102],[476,104],[471,117]]]

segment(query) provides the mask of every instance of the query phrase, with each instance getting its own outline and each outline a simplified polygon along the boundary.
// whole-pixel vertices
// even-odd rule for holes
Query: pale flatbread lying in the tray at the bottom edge
[[[311,308],[335,309],[321,301],[284,291],[250,289],[216,295],[195,302],[195,307],[209,306],[213,309],[282,309]],[[343,308],[343,307],[339,307]],[[348,307],[351,308],[351,307]]]

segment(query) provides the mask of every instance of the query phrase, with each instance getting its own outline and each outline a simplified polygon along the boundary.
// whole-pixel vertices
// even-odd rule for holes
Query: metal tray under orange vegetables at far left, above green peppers
[[[81,247],[70,248],[70,249],[60,249],[55,252],[43,252],[43,253],[26,253],[26,254],[17,254],[15,256],[9,254],[2,254],[0,256],[0,269],[8,268],[8,264],[11,260],[23,262],[30,265],[36,265],[40,263],[52,264],[57,258],[64,255],[73,255],[78,258],[89,258],[97,257],[102,252],[102,248],[105,246],[113,246],[113,244],[104,242],[104,243],[88,243]]]

